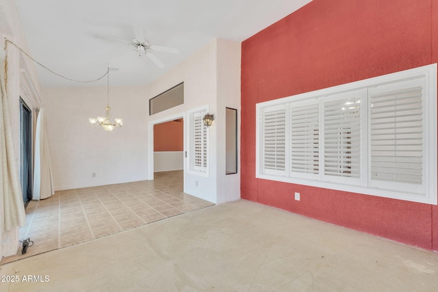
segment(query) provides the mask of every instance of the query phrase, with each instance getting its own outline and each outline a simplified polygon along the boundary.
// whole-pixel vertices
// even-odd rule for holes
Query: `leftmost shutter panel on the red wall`
[[[286,173],[286,109],[285,105],[268,107],[263,111],[263,172]]]

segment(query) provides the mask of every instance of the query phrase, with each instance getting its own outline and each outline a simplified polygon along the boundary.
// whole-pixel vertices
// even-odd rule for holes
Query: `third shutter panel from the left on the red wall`
[[[359,178],[360,92],[336,94],[326,100],[324,102],[324,175]]]

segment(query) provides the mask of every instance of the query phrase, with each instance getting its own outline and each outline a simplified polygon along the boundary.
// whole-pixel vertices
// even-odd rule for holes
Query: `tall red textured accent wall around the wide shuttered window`
[[[242,198],[438,250],[435,205],[255,178],[256,103],[436,62],[438,0],[313,0],[242,42]]]

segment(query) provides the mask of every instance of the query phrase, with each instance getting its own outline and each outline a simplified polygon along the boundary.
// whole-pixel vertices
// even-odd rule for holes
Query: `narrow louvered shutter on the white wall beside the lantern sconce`
[[[192,169],[207,170],[208,133],[203,123],[203,116],[207,111],[198,111],[192,116]]]

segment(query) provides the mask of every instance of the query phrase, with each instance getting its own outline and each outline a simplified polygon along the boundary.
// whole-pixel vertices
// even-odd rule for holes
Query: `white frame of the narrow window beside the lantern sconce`
[[[191,109],[190,111],[187,111],[188,116],[188,165],[189,169],[188,172],[190,174],[196,174],[200,176],[209,176],[209,129],[202,121],[202,118],[207,114],[209,111],[209,107],[203,106],[203,107],[196,107],[196,109]],[[202,136],[203,144],[205,143],[205,147],[203,147],[201,156],[205,157],[202,161],[202,165],[195,165],[194,158],[195,158],[195,149],[194,149],[194,118],[201,117],[201,131],[203,131],[204,135]]]

